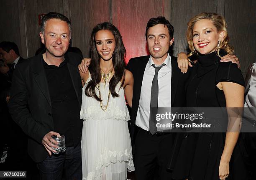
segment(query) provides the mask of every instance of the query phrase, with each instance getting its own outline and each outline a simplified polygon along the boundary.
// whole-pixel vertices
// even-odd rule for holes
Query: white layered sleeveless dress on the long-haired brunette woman
[[[124,89],[120,88],[120,84],[115,88],[120,96],[113,98],[110,94],[105,112],[99,101],[84,94],[87,84],[82,88],[80,118],[84,119],[81,142],[83,180],[125,180],[127,170],[134,170],[127,124],[130,116]],[[100,83],[100,94],[102,103],[106,105],[109,88],[108,83],[104,85]],[[99,96],[97,88],[95,91]]]

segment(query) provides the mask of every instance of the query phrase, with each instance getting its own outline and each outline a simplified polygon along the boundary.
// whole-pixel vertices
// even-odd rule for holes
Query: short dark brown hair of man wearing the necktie
[[[174,28],[169,22],[169,20],[167,20],[164,16],[158,16],[157,18],[151,18],[150,20],[148,20],[146,33],[145,33],[146,39],[148,35],[148,29],[158,24],[163,24],[168,28],[170,40],[171,40],[173,38]]]

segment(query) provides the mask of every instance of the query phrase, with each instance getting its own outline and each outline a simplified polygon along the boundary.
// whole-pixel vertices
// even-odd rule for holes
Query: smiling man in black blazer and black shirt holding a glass
[[[28,134],[28,154],[37,162],[41,179],[82,179],[82,83],[77,65],[81,58],[66,53],[71,23],[59,13],[41,21],[41,41],[46,53],[19,63],[13,74],[9,101],[13,120]],[[58,155],[52,136],[66,137],[66,152]],[[18,140],[18,139],[17,139]]]

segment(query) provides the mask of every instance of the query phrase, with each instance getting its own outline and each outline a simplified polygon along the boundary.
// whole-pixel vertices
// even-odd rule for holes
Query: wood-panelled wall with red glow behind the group
[[[187,22],[201,12],[222,14],[228,23],[230,43],[246,74],[256,55],[255,0],[1,0],[0,41],[13,41],[24,58],[41,46],[38,14],[63,13],[72,23],[72,46],[89,57],[92,28],[109,21],[120,30],[127,58],[147,54],[145,28],[149,18],[164,15],[174,26],[173,55],[187,51]]]

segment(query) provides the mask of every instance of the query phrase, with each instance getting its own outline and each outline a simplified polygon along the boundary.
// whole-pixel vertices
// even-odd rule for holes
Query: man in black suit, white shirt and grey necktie
[[[164,17],[151,18],[146,27],[146,40],[151,56],[131,58],[126,66],[134,77],[131,138],[138,180],[151,180],[156,174],[160,180],[172,179],[172,172],[167,170],[167,164],[175,134],[156,132],[154,127],[152,129],[155,117],[151,117],[151,107],[186,105],[184,84],[189,73],[183,74],[177,65],[177,58],[168,53],[169,46],[174,41],[173,33],[173,26]]]

